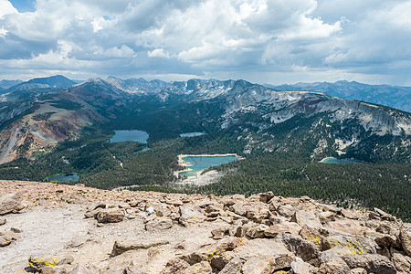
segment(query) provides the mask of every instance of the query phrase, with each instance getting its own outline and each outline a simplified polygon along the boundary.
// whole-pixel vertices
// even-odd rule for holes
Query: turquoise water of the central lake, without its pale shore
[[[184,162],[190,163],[188,168],[192,169],[184,173],[180,173],[180,176],[195,176],[197,172],[205,170],[211,166],[220,165],[222,163],[230,163],[237,161],[237,157],[230,156],[187,156],[183,158]]]

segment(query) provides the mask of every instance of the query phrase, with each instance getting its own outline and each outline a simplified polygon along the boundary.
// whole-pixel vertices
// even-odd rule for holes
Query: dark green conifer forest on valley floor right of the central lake
[[[287,154],[266,153],[216,169],[226,170],[227,175],[216,184],[193,191],[216,195],[266,191],[282,196],[309,195],[339,206],[375,206],[411,220],[409,163],[310,163]]]

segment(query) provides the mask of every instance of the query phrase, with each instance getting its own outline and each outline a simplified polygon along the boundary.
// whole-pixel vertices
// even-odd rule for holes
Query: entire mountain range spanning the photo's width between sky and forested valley
[[[328,88],[324,90],[323,85]],[[311,159],[332,154],[372,162],[397,158],[409,162],[410,113],[334,97],[341,90],[350,90],[344,94],[354,96],[350,87],[364,86],[359,83],[323,85],[299,86],[316,91],[279,91],[245,80],[164,82],[110,77],[76,84],[63,76],[32,79],[1,96],[0,163],[29,157],[47,145],[74,138],[86,125],[107,121],[142,128],[153,140],[177,137],[183,130],[235,132],[238,140],[246,142],[243,153],[305,147]],[[331,90],[334,94],[321,92]],[[367,92],[371,91],[363,93]],[[406,90],[395,94],[406,94]],[[384,150],[377,148],[381,142]]]

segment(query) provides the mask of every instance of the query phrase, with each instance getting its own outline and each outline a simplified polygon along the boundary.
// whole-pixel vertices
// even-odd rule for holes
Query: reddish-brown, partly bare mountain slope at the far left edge
[[[44,152],[59,141],[76,138],[85,125],[103,121],[95,108],[65,91],[19,100],[15,107],[6,103],[0,117],[0,163]]]

